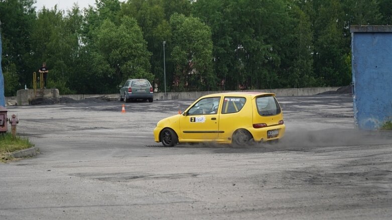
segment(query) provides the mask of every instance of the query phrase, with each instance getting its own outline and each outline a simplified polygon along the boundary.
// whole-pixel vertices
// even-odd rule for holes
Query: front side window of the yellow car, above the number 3
[[[211,115],[218,112],[220,97],[204,98],[194,104],[188,115]]]

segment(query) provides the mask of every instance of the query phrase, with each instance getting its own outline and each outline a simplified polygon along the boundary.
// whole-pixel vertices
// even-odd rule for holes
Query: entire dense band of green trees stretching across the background
[[[96,0],[64,12],[0,0],[5,94],[42,62],[61,94],[116,93],[127,78],[168,91],[343,86],[350,25],[392,22],[390,0]]]

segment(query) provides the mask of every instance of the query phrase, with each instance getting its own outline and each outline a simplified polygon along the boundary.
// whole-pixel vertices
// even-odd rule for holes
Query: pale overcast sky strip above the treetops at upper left
[[[88,5],[93,6],[95,4],[95,0],[37,0],[35,7],[36,11],[39,11],[43,6],[51,9],[57,4],[58,9],[67,11],[67,9],[72,8],[74,3],[77,3],[79,8],[82,9],[87,8]]]

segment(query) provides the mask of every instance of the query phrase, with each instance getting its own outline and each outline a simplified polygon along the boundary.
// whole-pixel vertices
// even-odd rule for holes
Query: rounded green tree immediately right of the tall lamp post
[[[198,18],[174,14],[170,17],[173,30],[171,57],[175,66],[174,89],[209,90],[216,84],[211,73],[211,31]]]

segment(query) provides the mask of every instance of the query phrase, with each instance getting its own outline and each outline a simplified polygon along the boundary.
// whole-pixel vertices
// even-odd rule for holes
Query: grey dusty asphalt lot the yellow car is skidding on
[[[351,95],[278,100],[286,136],[238,148],[154,142],[192,100],[8,107],[41,154],[0,163],[0,219],[391,219],[392,133]]]

